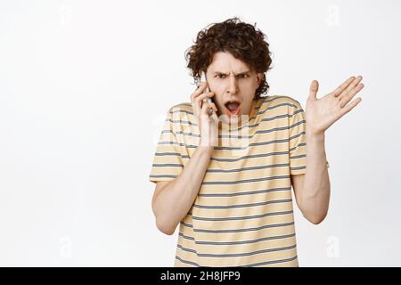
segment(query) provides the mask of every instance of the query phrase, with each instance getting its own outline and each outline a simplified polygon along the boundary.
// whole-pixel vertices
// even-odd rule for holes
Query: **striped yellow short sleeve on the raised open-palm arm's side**
[[[298,101],[290,110],[290,174],[303,175],[307,171],[307,122]]]

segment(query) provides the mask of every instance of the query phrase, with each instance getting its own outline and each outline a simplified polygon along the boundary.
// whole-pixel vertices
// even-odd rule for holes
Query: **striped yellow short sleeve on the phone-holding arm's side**
[[[184,169],[183,148],[180,147],[176,138],[172,112],[172,110],[168,110],[154,154],[149,175],[149,181],[152,183],[174,180]]]

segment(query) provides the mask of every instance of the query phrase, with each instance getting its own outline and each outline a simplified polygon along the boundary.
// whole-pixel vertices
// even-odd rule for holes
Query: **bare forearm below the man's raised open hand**
[[[300,209],[315,224],[323,221],[329,208],[330,179],[326,161],[324,134],[307,132],[307,173],[300,197]]]

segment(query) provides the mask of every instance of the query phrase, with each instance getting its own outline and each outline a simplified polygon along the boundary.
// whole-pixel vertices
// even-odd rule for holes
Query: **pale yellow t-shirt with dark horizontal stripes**
[[[179,224],[175,266],[298,266],[291,175],[306,172],[306,142],[304,110],[288,96],[254,99],[249,120],[231,133],[219,125],[219,145]],[[150,181],[175,179],[199,143],[191,103],[168,110]]]

